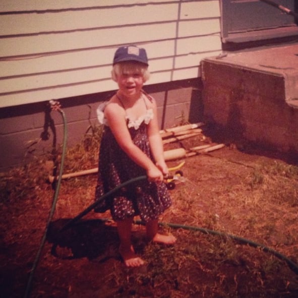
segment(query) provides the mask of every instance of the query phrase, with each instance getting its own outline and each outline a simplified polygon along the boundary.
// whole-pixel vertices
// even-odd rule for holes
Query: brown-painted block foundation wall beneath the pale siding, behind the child
[[[202,119],[200,78],[145,86],[157,101],[160,128]],[[58,100],[66,115],[68,147],[80,142],[90,125],[99,125],[96,108],[114,91]],[[0,108],[0,171],[50,152],[63,142],[63,117],[48,102]]]

